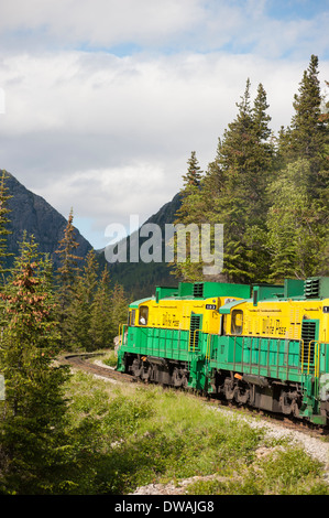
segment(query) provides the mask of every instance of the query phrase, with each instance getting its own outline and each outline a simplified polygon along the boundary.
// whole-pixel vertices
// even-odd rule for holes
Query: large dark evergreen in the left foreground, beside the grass
[[[37,262],[33,238],[24,237],[1,300],[6,319],[0,337],[0,370],[6,379],[6,399],[0,402],[1,492],[52,492],[62,458],[67,373],[54,366],[59,343],[54,298],[48,268]]]

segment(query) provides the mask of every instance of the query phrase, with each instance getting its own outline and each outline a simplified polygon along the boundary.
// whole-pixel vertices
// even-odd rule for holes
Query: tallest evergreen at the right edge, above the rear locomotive
[[[329,271],[325,231],[329,214],[328,104],[323,105],[315,55],[303,74],[293,106],[290,127],[282,128],[278,138],[282,171],[270,188],[273,205],[267,222],[268,244],[274,253],[272,277],[278,279]]]

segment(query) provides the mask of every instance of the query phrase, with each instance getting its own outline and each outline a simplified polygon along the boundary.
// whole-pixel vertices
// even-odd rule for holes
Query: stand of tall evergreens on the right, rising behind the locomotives
[[[264,86],[252,102],[248,79],[237,117],[205,173],[191,152],[176,223],[223,224],[221,279],[274,282],[329,273],[329,104],[318,73],[312,55],[293,99],[290,125],[278,134],[271,130]],[[202,280],[202,266],[187,257],[174,270]]]

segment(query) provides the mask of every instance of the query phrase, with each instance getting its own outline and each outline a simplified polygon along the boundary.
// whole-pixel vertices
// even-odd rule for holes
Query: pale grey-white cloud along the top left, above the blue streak
[[[156,43],[199,21],[198,0],[12,0],[1,8],[0,30],[40,30],[59,42],[116,45]]]

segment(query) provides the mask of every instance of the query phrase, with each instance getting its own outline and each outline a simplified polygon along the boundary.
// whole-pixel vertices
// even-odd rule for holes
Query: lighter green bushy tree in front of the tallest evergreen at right
[[[318,201],[308,193],[310,164],[298,160],[288,164],[272,184],[273,205],[268,212],[271,277],[305,279],[317,273],[326,240]]]

